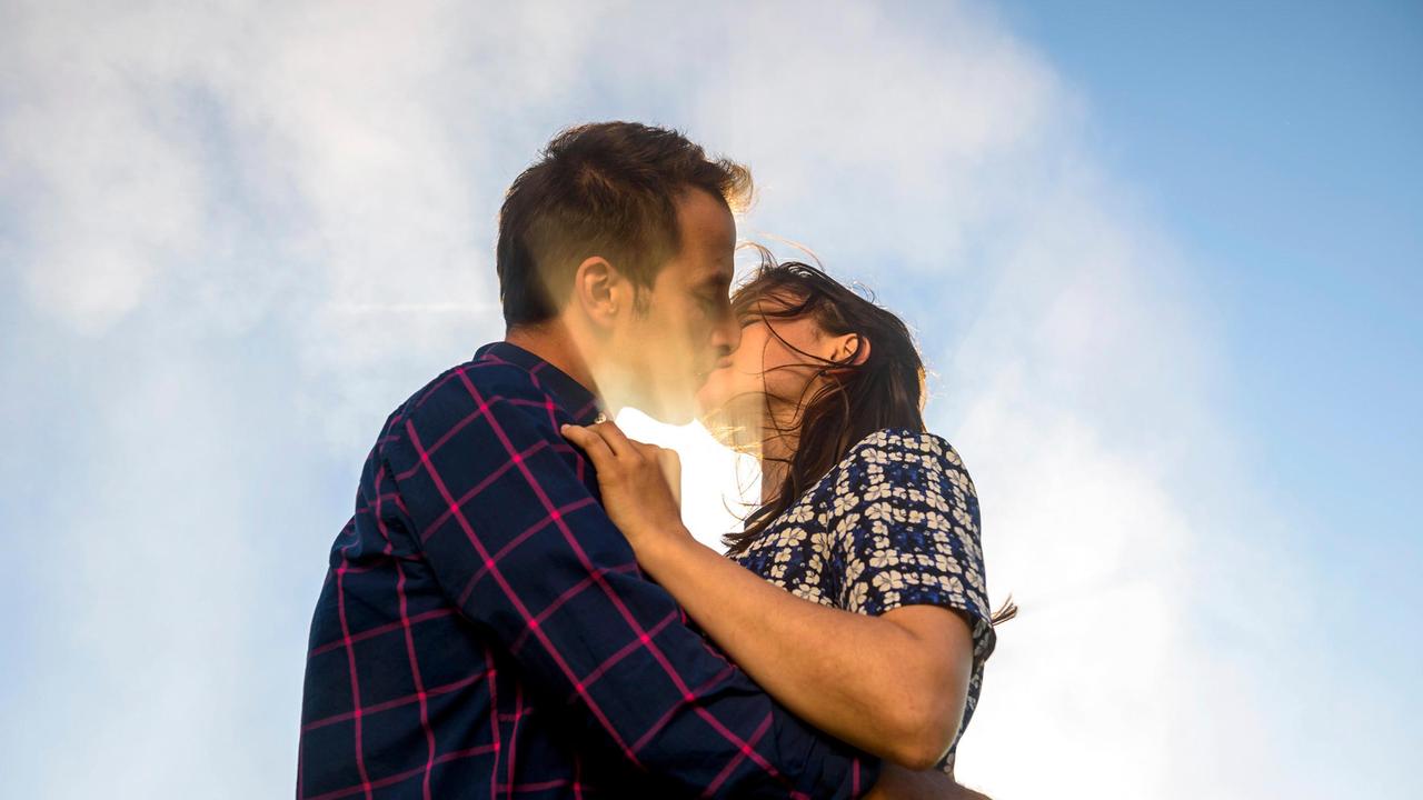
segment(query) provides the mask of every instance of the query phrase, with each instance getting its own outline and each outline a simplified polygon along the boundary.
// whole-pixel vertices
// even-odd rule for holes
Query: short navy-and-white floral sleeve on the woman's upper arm
[[[979,504],[959,454],[938,436],[882,430],[841,463],[822,511],[842,559],[838,606],[878,616],[904,605],[958,612],[973,660],[996,636],[983,575]]]

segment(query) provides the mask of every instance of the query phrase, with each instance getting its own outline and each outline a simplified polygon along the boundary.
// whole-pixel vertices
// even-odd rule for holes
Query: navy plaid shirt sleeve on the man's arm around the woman
[[[878,760],[800,722],[638,569],[546,396],[457,373],[387,446],[441,591],[629,762],[710,797],[858,797]],[[534,390],[536,391],[536,390]]]

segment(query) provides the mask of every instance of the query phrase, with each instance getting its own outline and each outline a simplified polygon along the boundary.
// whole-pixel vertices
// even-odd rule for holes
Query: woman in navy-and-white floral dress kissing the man
[[[613,423],[564,433],[643,569],[773,698],[884,759],[878,796],[975,796],[951,780],[955,747],[1013,609],[989,614],[978,498],[924,430],[909,332],[798,262],[763,263],[733,310],[741,343],[699,397],[707,428],[761,463],[730,558],[682,524],[670,451]]]

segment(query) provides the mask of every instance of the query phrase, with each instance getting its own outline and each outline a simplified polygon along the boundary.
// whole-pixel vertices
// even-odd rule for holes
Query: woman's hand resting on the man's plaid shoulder
[[[639,561],[657,544],[692,538],[682,524],[682,463],[675,450],[628,438],[612,421],[564,426],[561,433],[593,463],[603,508]]]

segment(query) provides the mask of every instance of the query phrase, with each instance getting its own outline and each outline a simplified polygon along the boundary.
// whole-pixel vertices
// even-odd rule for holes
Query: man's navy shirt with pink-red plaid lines
[[[879,764],[707,642],[498,342],[390,416],[312,621],[297,797],[858,797]]]

